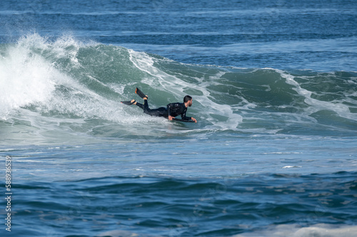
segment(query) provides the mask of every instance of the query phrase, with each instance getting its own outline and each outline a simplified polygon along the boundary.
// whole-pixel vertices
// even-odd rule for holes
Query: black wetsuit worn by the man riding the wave
[[[183,120],[191,120],[191,117],[186,117],[187,108],[184,103],[171,103],[167,107],[159,107],[153,110],[149,108],[148,100],[144,100],[144,105],[139,102],[136,102],[136,105],[141,107],[144,113],[151,116],[168,118],[169,115],[172,117],[181,115]]]

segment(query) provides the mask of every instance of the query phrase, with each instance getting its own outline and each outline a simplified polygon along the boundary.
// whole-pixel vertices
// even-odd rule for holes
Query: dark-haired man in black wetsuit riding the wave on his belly
[[[189,95],[186,95],[183,98],[183,103],[176,102],[167,105],[166,107],[159,107],[157,109],[150,109],[148,104],[148,97],[147,95],[144,97],[144,105],[136,102],[135,100],[131,100],[132,105],[137,105],[144,110],[144,113],[156,116],[156,117],[166,117],[169,120],[172,120],[178,115],[181,115],[182,120],[192,120],[193,122],[197,122],[194,117],[187,117],[187,107],[191,107],[192,105],[192,98]]]

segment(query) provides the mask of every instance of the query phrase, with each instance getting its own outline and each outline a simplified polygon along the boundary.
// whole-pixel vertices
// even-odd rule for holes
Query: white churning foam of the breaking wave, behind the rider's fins
[[[51,42],[38,34],[23,36],[14,45],[0,51],[0,119],[11,117],[16,109],[41,105],[46,110],[74,112],[81,116],[93,110],[90,100],[101,98],[81,85],[66,68],[56,68],[58,60],[70,60],[71,66],[80,66],[77,53],[83,44],[69,36]],[[69,88],[69,93],[59,93],[58,88]],[[99,102],[103,107],[103,102]],[[104,111],[99,111],[104,114]]]

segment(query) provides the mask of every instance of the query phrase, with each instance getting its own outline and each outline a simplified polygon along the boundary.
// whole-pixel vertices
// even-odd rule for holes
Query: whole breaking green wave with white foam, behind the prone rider
[[[36,33],[0,45],[3,142],[65,142],[177,135],[355,136],[357,73],[178,63],[120,46],[49,40]],[[197,125],[149,117],[151,107],[193,97]],[[174,128],[174,130],[173,130]],[[141,134],[138,134],[138,129]]]

